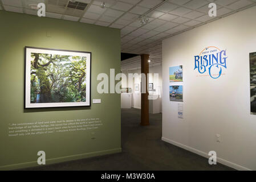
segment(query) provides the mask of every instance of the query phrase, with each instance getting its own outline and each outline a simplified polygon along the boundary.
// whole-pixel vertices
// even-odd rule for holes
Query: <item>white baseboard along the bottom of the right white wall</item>
[[[178,142],[174,142],[173,140],[170,140],[170,139],[164,138],[164,137],[162,137],[162,140],[164,142],[168,142],[170,144],[173,144],[174,146],[181,147],[181,148],[184,148],[185,150],[188,150],[188,151],[193,152],[195,154],[201,155],[201,156],[203,156],[203,157],[205,157],[207,159],[209,158],[209,155],[206,152],[202,152],[200,150],[197,150],[196,148],[192,148],[192,147],[186,146],[184,144],[181,144],[181,143],[178,143]],[[217,163],[224,164],[225,166],[237,169],[239,171],[251,171],[251,169],[249,169],[249,168],[240,166],[238,164],[229,162],[228,160],[221,159],[221,158],[218,158],[218,157],[217,157]]]

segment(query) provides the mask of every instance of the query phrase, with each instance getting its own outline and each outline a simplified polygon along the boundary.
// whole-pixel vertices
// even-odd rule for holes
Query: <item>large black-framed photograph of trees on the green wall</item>
[[[91,105],[91,52],[25,47],[25,108]]]

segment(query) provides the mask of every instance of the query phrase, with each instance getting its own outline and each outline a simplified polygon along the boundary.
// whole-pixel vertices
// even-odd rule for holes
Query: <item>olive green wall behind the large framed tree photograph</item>
[[[99,73],[109,75],[110,68],[120,72],[120,31],[6,11],[0,11],[0,22],[0,169],[38,166],[40,150],[46,152],[46,164],[120,152],[120,94],[99,94],[96,90]],[[91,103],[100,98],[101,104],[23,109],[25,46],[92,52]],[[103,126],[88,131],[8,136],[9,123],[86,118],[100,118]]]

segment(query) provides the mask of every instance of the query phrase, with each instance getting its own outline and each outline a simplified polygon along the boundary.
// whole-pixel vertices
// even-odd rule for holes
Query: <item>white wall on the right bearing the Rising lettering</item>
[[[256,115],[250,114],[249,52],[256,52],[256,7],[162,42],[162,140],[237,169],[256,169]],[[207,46],[227,51],[225,75],[197,77],[194,56]],[[169,101],[169,67],[183,65],[184,119]],[[216,142],[221,135],[221,143]],[[207,160],[206,160],[207,162]]]

